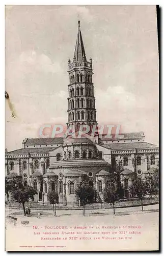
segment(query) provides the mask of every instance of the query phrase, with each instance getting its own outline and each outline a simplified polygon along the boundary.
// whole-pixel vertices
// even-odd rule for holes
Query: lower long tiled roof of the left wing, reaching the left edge
[[[49,151],[54,150],[52,147],[41,147],[41,148],[19,148],[19,150],[13,150],[5,153],[6,155],[10,154],[28,154],[28,153],[48,153]]]

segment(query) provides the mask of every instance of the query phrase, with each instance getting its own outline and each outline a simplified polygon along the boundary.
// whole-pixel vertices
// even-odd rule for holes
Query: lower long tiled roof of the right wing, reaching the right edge
[[[154,144],[148,142],[132,142],[132,143],[114,143],[114,144],[104,144],[104,147],[111,148],[111,150],[131,150],[139,148],[158,148]]]

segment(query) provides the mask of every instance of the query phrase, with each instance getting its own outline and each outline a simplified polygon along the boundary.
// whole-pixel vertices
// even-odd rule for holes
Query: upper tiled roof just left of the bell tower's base
[[[62,144],[63,137],[59,138],[28,138],[25,145],[48,145],[48,144]]]

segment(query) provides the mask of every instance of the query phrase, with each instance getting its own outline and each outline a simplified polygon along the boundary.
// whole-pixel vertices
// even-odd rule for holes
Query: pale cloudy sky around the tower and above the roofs
[[[80,19],[92,57],[99,124],[119,124],[158,144],[156,6],[6,6],[6,148],[39,137],[44,124],[65,124],[68,57]]]

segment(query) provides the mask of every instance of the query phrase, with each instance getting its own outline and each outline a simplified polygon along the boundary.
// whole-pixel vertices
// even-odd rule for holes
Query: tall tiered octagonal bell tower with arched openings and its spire
[[[68,58],[68,73],[67,126],[74,125],[77,130],[80,124],[97,125],[92,59],[87,61],[79,20],[73,61]]]

